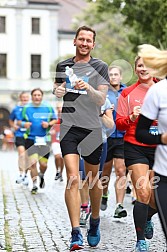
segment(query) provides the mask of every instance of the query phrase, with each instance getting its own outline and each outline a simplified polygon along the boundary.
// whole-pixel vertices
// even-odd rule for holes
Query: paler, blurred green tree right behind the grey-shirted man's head
[[[83,14],[76,19],[78,22],[74,29],[81,25],[88,25],[96,30],[96,46],[92,51],[92,56],[104,60],[108,65],[115,61],[120,63],[120,66],[122,61],[126,61],[127,65],[133,65],[136,54],[128,38],[131,29],[124,24],[125,18],[122,14],[102,12],[99,15],[96,3],[89,3]]]

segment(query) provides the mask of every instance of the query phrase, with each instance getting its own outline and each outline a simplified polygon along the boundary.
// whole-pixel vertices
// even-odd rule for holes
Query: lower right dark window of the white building
[[[41,55],[31,55],[31,78],[41,78]]]

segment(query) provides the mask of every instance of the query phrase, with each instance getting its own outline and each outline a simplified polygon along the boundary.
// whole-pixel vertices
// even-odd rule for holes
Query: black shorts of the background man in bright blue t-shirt
[[[25,144],[28,156],[38,154],[39,157],[49,158],[50,146],[49,145],[34,145],[34,140],[26,139]]]

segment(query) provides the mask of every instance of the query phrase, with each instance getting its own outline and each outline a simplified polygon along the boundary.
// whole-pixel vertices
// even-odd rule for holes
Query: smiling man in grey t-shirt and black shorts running
[[[86,173],[91,172],[92,180],[95,179],[89,190],[92,215],[87,241],[92,247],[100,241],[99,210],[102,190],[96,176],[102,144],[99,115],[100,108],[105,103],[109,76],[107,64],[90,55],[95,46],[95,36],[95,31],[90,27],[82,26],[77,30],[74,38],[76,55],[58,63],[53,89],[53,93],[58,98],[63,97],[64,101],[60,144],[67,172],[65,199],[72,226],[71,251],[83,247],[79,227],[79,154],[85,160]],[[89,182],[91,186],[91,181]]]

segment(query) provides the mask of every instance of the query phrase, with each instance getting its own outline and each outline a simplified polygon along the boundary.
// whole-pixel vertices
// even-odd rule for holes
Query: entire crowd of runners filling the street
[[[148,240],[156,228],[152,216],[157,212],[167,237],[167,52],[141,47],[134,61],[137,81],[127,87],[120,66],[108,67],[91,56],[95,38],[92,28],[80,27],[74,38],[75,56],[57,64],[55,108],[43,100],[40,88],[20,94],[9,117],[18,151],[16,183],[28,186],[29,172],[31,193],[44,188],[52,152],[54,179],[63,181],[66,170],[69,248],[75,251],[84,248],[81,226],[87,223],[89,246],[100,242],[100,210],[108,207],[114,169],[113,217],[127,216],[123,202],[125,193],[131,193],[135,251],[149,251]]]

